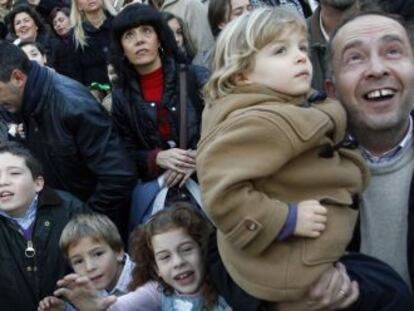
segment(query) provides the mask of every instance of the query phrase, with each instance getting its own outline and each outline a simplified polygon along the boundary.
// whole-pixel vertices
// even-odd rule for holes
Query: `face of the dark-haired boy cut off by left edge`
[[[33,179],[24,158],[0,154],[0,210],[12,217],[23,216],[43,184],[42,177]]]

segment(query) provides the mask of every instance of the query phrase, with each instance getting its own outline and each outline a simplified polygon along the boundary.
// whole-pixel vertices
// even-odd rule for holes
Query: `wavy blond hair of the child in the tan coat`
[[[217,39],[213,73],[204,88],[206,101],[231,93],[236,77],[254,68],[257,52],[292,30],[308,36],[305,19],[288,7],[258,8],[227,24]]]

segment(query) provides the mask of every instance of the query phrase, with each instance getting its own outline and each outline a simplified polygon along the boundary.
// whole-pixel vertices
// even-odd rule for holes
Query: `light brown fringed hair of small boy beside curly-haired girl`
[[[105,215],[81,213],[75,215],[65,226],[59,240],[59,247],[65,257],[69,248],[83,238],[105,242],[114,251],[124,248],[121,236],[115,224]]]

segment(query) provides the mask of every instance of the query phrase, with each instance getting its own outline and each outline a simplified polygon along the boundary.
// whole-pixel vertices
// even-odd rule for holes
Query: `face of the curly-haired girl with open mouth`
[[[197,292],[204,281],[201,248],[182,228],[151,238],[158,275],[182,294]]]

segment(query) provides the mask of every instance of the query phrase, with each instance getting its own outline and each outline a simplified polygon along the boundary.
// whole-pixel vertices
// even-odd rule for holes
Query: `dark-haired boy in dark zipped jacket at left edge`
[[[42,168],[16,143],[0,144],[0,305],[35,310],[69,267],[56,245],[84,205],[44,186]]]

